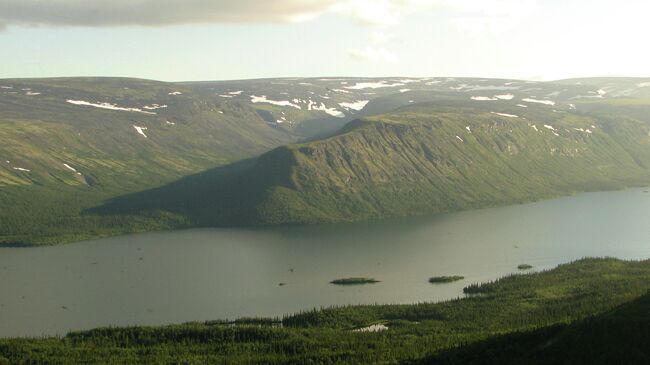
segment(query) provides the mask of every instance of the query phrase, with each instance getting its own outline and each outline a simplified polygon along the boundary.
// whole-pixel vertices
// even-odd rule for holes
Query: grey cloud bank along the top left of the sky
[[[432,0],[0,0],[0,24],[165,26],[220,22],[297,22],[327,12],[395,23]]]

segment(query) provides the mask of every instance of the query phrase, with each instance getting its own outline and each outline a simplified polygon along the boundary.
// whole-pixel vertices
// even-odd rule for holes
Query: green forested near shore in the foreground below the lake
[[[475,287],[479,295],[442,303],[4,339],[0,363],[545,364],[563,354],[571,364],[647,359],[650,261],[583,259]],[[379,323],[388,329],[354,331]]]

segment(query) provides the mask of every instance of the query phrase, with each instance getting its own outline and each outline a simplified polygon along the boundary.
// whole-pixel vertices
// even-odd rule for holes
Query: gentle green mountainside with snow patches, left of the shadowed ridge
[[[0,243],[137,230],[136,218],[81,211],[296,140],[247,105],[175,84],[66,78],[0,85],[7,87],[0,94]]]

